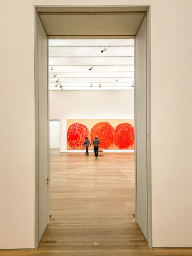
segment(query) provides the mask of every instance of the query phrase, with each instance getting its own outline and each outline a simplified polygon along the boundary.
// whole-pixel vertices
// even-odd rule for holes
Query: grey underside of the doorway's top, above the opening
[[[145,12],[42,12],[48,36],[135,36]]]

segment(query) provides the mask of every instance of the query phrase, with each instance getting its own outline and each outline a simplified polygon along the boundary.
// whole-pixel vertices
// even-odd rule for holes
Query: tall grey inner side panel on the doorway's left
[[[47,35],[36,14],[36,220],[35,247],[49,224],[49,91]]]

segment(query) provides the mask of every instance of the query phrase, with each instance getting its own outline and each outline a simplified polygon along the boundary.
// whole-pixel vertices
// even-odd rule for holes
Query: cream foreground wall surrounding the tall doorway
[[[192,247],[192,1],[4,0],[0,248],[34,247],[34,5],[136,4],[151,4],[153,246]]]

